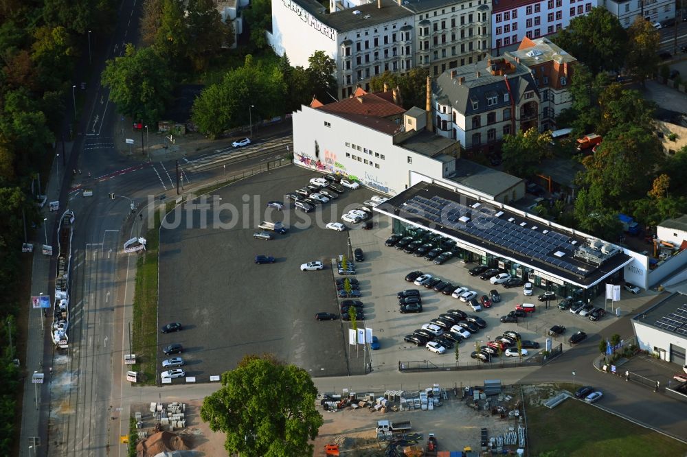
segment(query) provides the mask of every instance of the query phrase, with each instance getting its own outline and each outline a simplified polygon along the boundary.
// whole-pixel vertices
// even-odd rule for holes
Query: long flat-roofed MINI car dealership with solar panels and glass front
[[[374,210],[392,218],[394,233],[455,244],[464,262],[500,268],[559,296],[587,301],[623,281],[647,287],[644,256],[450,180],[412,173],[408,189]]]

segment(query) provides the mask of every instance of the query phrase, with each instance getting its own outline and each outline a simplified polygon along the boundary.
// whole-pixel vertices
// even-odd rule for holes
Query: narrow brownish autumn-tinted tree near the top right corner
[[[644,84],[646,78],[651,78],[658,67],[661,35],[651,21],[646,21],[641,15],[635,16],[627,34],[629,49],[626,67],[631,75]]]

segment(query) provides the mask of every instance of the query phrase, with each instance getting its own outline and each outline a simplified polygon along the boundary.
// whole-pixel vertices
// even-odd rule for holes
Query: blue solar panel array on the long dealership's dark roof
[[[589,272],[565,259],[568,256],[572,258],[574,240],[571,237],[549,229],[539,231],[537,226],[528,226],[515,218],[508,221],[499,219],[503,212],[485,205],[472,204],[469,207],[440,196],[425,198],[416,195],[407,200],[403,208],[442,226],[468,233],[574,274],[585,276]]]

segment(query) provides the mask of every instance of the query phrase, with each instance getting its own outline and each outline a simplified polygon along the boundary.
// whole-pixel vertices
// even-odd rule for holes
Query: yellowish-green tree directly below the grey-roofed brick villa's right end
[[[548,155],[550,141],[550,132],[539,133],[534,127],[507,134],[501,147],[504,169],[524,178],[536,174],[542,159]]]

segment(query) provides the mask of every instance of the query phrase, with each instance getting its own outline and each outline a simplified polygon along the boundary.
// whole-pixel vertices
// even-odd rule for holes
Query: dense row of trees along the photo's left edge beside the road
[[[7,0],[0,2],[0,455],[15,454],[14,397],[18,354],[8,346],[19,335],[23,215],[40,224],[32,196],[38,172],[54,159],[50,143],[63,136],[64,100],[71,98],[76,60],[91,38],[111,31],[111,0]],[[71,103],[68,105],[71,107]]]

